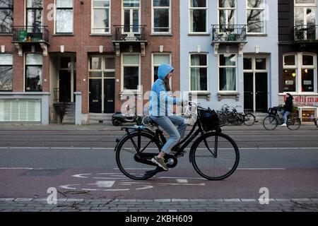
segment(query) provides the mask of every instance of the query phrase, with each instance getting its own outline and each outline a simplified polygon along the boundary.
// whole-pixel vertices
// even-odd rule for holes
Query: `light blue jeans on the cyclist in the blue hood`
[[[167,140],[167,143],[163,145],[162,151],[170,153],[171,148],[184,137],[185,130],[187,129],[187,125],[184,124],[184,119],[176,115],[151,116],[151,119],[169,134],[170,138]],[[177,125],[178,128],[175,128],[175,125]]]

